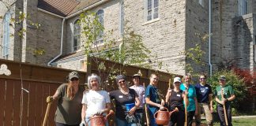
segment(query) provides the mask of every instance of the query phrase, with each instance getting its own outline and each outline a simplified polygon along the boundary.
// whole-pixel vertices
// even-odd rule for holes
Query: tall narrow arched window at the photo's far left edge
[[[3,37],[2,37],[2,58],[8,59],[9,56],[9,20],[11,15],[6,13],[3,20]]]

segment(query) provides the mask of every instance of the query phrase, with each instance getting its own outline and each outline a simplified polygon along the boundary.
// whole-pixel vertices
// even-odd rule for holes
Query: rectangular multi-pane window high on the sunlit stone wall
[[[159,0],[147,0],[147,21],[158,18]]]

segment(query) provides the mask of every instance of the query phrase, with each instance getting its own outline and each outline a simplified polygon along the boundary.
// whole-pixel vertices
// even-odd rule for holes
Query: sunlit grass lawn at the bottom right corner
[[[202,120],[202,123],[206,123],[206,120]],[[248,117],[248,118],[238,118],[232,119],[232,124],[234,126],[255,126],[256,125],[256,117]],[[220,122],[214,122],[214,126],[219,126]]]

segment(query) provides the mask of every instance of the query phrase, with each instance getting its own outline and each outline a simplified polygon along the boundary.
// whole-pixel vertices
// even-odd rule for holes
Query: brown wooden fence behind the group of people
[[[104,61],[100,60],[99,61]],[[58,69],[40,65],[31,65],[27,63],[19,63],[16,61],[6,61],[0,59],[0,65],[7,65],[7,69],[11,72],[10,76],[0,74],[0,125],[1,126],[39,126],[43,123],[43,117],[47,108],[46,98],[54,95],[57,87],[61,83],[66,83],[66,76],[70,69]],[[111,61],[104,61],[107,69],[113,64],[115,67],[121,68],[122,72],[126,72],[127,80],[131,82],[132,75],[139,70],[142,73],[141,83],[149,83],[149,76],[156,72],[152,69],[143,69],[131,65],[121,65]],[[107,74],[107,69],[104,74]],[[81,83],[85,83],[86,76],[90,73],[98,73],[95,62],[87,66],[87,72],[79,72]],[[168,90],[168,80],[171,75],[165,72],[158,72],[160,76],[158,88],[165,95]],[[21,78],[22,76],[22,78]],[[106,76],[105,76],[106,77]],[[21,90],[21,79],[24,90]],[[104,79],[104,77],[102,78]],[[117,89],[115,83],[104,83],[107,91]],[[28,91],[28,92],[27,92]],[[21,97],[23,95],[23,97]],[[23,99],[22,99],[23,98]],[[48,126],[55,125],[56,104],[51,106]],[[111,124],[113,122],[110,122]]]

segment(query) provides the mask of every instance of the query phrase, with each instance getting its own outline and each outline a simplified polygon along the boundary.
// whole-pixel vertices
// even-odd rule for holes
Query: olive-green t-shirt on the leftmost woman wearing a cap
[[[67,98],[67,83],[60,85],[57,90],[59,91],[59,95],[55,121],[70,125],[80,124],[82,108],[81,101],[83,98],[84,88],[79,86],[77,94],[73,99]]]

